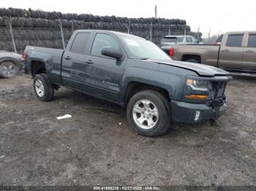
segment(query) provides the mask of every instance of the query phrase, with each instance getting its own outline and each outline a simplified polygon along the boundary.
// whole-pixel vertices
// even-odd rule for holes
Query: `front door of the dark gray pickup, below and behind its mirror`
[[[104,47],[112,47],[124,52],[116,36],[103,33],[95,34],[91,53],[85,66],[87,78],[83,83],[83,90],[117,102],[127,59],[116,60],[116,58],[102,55]]]

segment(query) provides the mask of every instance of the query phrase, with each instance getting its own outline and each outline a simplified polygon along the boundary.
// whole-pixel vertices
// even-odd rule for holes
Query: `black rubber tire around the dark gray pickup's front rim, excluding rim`
[[[151,101],[158,110],[156,124],[149,129],[140,127],[133,117],[133,108],[141,100]],[[143,117],[142,115],[140,117]],[[164,95],[154,90],[143,90],[130,98],[127,106],[127,120],[132,128],[142,136],[160,136],[165,133],[171,124],[170,103]],[[147,122],[146,122],[147,124]]]

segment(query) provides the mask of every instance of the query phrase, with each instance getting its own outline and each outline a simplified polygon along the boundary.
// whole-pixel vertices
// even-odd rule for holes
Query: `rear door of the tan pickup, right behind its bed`
[[[241,70],[244,55],[244,34],[228,34],[219,50],[219,68]]]

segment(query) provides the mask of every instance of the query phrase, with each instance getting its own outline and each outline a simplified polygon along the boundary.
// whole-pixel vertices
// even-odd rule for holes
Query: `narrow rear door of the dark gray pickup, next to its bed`
[[[91,32],[78,32],[71,47],[65,50],[61,66],[61,79],[65,86],[81,90],[82,82],[86,78],[84,69],[88,59],[90,36]]]

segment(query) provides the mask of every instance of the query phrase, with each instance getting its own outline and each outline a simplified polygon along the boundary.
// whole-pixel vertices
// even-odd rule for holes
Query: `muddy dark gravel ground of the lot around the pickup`
[[[116,105],[65,88],[43,103],[29,76],[0,79],[0,185],[256,185],[256,79],[226,94],[219,126],[148,138]]]

